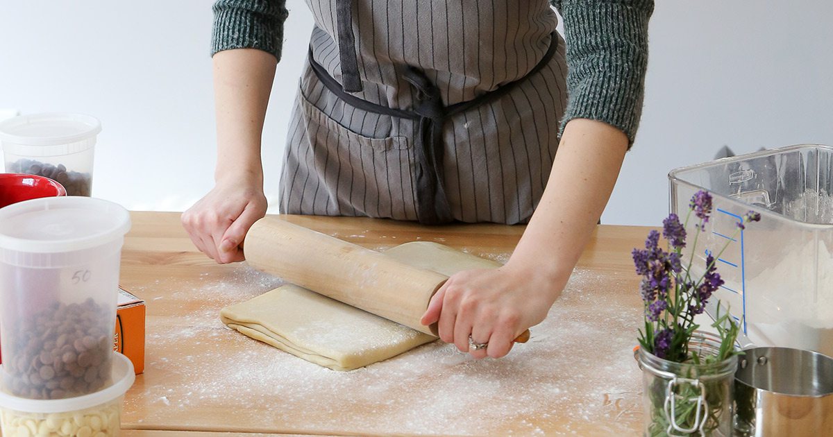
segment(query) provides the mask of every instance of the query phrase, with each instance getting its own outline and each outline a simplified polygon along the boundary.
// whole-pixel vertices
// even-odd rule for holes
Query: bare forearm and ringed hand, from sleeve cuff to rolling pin
[[[576,118],[566,124],[550,180],[512,252],[493,271],[461,271],[428,304],[421,323],[477,358],[501,357],[512,340],[544,320],[611,196],[628,139],[616,127]],[[468,336],[488,343],[469,350]]]

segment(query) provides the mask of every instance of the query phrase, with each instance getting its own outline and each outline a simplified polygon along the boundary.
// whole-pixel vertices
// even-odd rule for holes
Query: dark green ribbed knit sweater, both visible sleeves
[[[573,118],[606,122],[633,142],[642,112],[653,0],[551,0],[564,20],[567,107]],[[286,0],[217,0],[212,54],[252,47],[279,60]]]

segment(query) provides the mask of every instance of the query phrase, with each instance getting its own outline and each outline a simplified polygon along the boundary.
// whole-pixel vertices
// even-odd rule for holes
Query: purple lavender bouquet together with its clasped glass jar
[[[706,230],[710,215],[711,195],[698,191],[691,198],[685,224],[676,214],[662,222],[669,251],[660,247],[660,233],[651,231],[645,249],[632,252],[636,273],[642,276],[645,305],[645,329],[639,336],[645,435],[731,435],[731,383],[736,355],[742,353],[735,347],[739,328],[728,311],[721,315],[720,305],[712,324],[716,335],[697,330],[700,325],[694,320],[723,285],[715,266],[722,250],[717,256],[707,254],[703,274],[695,276],[691,271],[697,237]],[[696,232],[686,262],[682,249],[692,216],[697,220]],[[738,231],[760,219],[750,211],[737,223]]]

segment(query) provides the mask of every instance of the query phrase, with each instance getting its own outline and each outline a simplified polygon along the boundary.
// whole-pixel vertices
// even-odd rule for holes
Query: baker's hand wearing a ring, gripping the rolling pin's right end
[[[511,261],[497,269],[461,271],[440,287],[420,321],[437,323],[440,338],[462,352],[500,358],[518,335],[544,320],[565,282]],[[488,346],[470,350],[469,335]]]

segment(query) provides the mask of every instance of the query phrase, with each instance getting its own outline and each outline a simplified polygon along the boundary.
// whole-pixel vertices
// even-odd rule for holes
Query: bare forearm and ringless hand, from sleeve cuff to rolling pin
[[[182,214],[197,248],[220,264],[243,261],[242,243],[266,215],[261,135],[277,58],[253,48],[217,52],[214,107],[217,112],[215,185]]]

